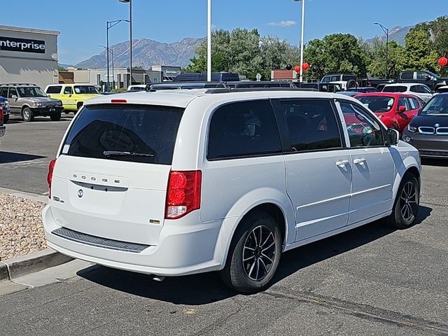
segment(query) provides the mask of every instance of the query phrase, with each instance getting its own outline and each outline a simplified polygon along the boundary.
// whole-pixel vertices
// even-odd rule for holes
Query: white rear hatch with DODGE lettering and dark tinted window
[[[106,239],[156,245],[183,109],[87,105],[52,174],[56,223]]]

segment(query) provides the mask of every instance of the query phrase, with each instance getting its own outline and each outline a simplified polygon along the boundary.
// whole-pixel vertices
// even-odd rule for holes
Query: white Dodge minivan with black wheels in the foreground
[[[266,288],[283,251],[419,207],[418,151],[356,99],[176,90],[85,102],[48,173],[48,245],[162,276]]]

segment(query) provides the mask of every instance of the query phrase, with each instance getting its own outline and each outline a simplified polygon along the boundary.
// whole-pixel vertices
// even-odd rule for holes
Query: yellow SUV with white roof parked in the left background
[[[100,95],[93,85],[83,84],[50,84],[45,87],[45,93],[52,98],[61,99],[66,113],[76,113],[87,99]]]

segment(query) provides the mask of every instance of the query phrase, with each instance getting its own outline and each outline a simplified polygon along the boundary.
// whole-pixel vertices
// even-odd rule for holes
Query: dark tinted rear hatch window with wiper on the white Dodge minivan
[[[171,165],[182,114],[172,106],[85,106],[62,155]]]

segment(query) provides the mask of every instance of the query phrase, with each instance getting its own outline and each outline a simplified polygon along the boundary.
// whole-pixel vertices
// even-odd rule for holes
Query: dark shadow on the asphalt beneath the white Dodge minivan
[[[420,207],[416,225],[428,218],[431,211],[431,208]],[[395,229],[376,221],[283,253],[272,284],[304,267],[351,251],[353,248],[368,244],[394,231]],[[217,272],[167,277],[162,282],[153,281],[150,275],[99,265],[82,269],[77,274],[87,281],[113,290],[174,304],[209,304],[239,295],[234,290],[225,287]]]

